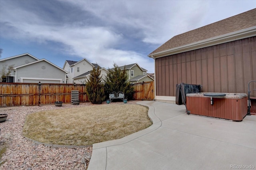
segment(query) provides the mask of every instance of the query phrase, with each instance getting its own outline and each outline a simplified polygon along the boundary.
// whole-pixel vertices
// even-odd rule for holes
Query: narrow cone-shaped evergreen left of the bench
[[[93,104],[101,104],[106,96],[104,93],[104,82],[102,76],[100,76],[100,69],[93,68],[90,73],[90,77],[86,82],[86,94],[88,100]]]

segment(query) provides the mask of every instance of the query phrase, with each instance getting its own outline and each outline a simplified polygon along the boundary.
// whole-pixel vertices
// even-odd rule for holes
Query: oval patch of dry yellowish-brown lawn
[[[91,145],[119,139],[152,125],[141,105],[95,105],[27,115],[23,135],[48,144]]]

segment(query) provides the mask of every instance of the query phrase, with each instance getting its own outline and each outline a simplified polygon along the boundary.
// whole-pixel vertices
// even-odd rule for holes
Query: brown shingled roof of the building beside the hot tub
[[[168,40],[166,43],[158,47],[156,50],[154,50],[152,53],[150,53],[148,56],[151,57],[152,55],[157,55],[159,53],[167,52],[170,49],[174,50],[178,47],[183,47],[188,44],[192,45],[193,43],[202,42],[204,40],[210,41],[213,38],[219,38],[219,36],[223,36],[223,35],[231,36],[230,33],[238,34],[240,33],[239,32],[240,30],[246,30],[247,32],[250,31],[250,33],[252,33],[252,31],[254,30],[253,35],[255,36],[255,29],[256,29],[256,8],[253,10],[244,12],[242,14],[232,16],[230,18],[220,20],[218,22],[214,22],[212,24],[203,26],[201,28],[197,28],[195,30],[174,36],[173,38]],[[234,38],[232,40],[234,40]],[[177,51],[177,53],[178,52],[182,52],[182,51]]]

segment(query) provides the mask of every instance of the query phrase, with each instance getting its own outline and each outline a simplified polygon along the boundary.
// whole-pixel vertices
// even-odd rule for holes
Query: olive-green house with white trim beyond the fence
[[[142,83],[143,81],[144,82],[154,81],[154,79],[152,79],[152,77],[147,75],[148,70],[140,67],[137,63],[123,65],[118,68],[126,71],[126,73],[128,75],[128,81],[130,81],[130,83]]]

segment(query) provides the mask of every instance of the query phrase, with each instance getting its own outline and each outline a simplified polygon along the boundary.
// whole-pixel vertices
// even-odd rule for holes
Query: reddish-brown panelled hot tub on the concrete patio
[[[242,121],[247,115],[247,94],[245,93],[188,93],[188,113],[232,121]],[[225,95],[223,95],[225,94]],[[212,99],[212,101],[211,101]]]

